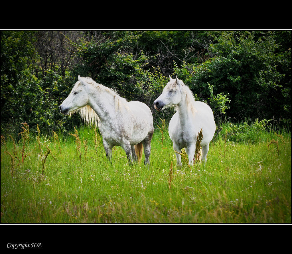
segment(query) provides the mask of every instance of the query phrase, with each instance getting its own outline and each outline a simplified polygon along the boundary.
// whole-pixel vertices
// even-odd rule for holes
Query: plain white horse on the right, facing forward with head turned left
[[[161,111],[176,105],[177,111],[169,122],[168,133],[176,152],[181,152],[185,147],[189,165],[193,165],[196,141],[202,128],[202,161],[206,162],[209,143],[216,130],[213,111],[206,103],[195,101],[192,91],[183,81],[176,76],[175,79],[169,78],[162,94],[155,100],[154,107]],[[180,154],[175,154],[177,166],[182,166]]]

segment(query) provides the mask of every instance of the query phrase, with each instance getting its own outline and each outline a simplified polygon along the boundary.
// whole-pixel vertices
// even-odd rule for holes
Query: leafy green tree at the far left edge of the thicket
[[[39,80],[29,72],[32,31],[1,31],[1,132],[18,132],[42,101]],[[35,119],[34,119],[35,120]]]

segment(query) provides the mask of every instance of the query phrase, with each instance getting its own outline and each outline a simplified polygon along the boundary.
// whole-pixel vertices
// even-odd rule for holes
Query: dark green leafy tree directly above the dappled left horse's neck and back
[[[75,75],[90,76],[97,83],[118,90],[128,100],[137,100],[143,93],[147,57],[133,48],[141,33],[136,31],[99,31],[90,41],[83,39],[78,56],[82,63]],[[135,54],[134,54],[135,53]]]

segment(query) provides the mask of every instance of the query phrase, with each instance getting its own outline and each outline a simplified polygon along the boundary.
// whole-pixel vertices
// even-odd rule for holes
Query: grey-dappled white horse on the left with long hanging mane
[[[154,131],[150,108],[142,102],[127,102],[112,89],[95,83],[91,78],[78,75],[78,80],[59,107],[60,112],[71,115],[79,111],[87,123],[95,121],[109,160],[112,148],[118,145],[125,150],[129,164],[133,160],[140,162],[144,147],[144,163],[149,163]]]

